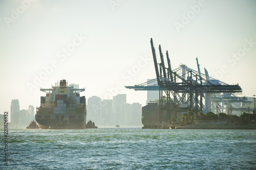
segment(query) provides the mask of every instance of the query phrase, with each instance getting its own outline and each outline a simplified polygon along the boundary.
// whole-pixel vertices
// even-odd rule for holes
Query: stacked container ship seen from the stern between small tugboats
[[[60,80],[41,96],[40,107],[36,108],[35,119],[40,129],[85,129],[86,97],[80,96],[78,85],[68,86],[66,80]]]

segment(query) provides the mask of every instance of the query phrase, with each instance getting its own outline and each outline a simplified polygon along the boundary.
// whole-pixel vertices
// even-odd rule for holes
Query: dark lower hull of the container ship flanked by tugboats
[[[60,119],[57,117],[61,117]],[[35,115],[36,122],[40,129],[85,129],[86,115],[84,114],[49,114]],[[58,126],[58,122],[69,119],[67,126]]]

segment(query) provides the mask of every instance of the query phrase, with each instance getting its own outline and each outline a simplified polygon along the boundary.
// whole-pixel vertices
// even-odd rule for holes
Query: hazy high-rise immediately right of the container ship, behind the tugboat
[[[87,104],[87,120],[92,120],[92,122],[97,123],[100,121],[101,112],[101,98],[97,96],[92,96],[88,98]]]

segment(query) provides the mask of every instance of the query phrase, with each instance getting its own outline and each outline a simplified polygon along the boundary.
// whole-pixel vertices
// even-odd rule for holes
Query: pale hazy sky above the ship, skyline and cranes
[[[156,77],[150,38],[174,68],[197,70],[198,57],[201,70],[252,96],[255,16],[253,0],[0,1],[1,114],[12,99],[20,109],[39,106],[39,87],[61,79],[86,87],[87,99],[126,93],[144,106],[146,91],[124,85]]]

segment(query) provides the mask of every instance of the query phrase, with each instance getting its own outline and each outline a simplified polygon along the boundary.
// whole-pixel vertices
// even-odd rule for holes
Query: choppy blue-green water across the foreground
[[[10,129],[8,136],[8,168],[2,161],[0,169],[256,169],[256,130]]]

